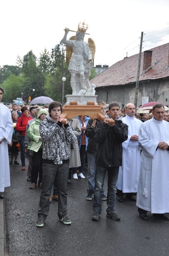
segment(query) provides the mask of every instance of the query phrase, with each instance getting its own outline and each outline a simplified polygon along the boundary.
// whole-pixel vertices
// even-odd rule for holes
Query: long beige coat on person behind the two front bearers
[[[79,121],[76,118],[68,119],[68,124],[72,127],[72,130],[76,135],[76,137],[78,137],[81,134]],[[71,149],[71,144],[70,144],[70,151],[71,151],[70,168],[81,166],[79,146],[78,146],[77,140],[76,142],[73,143],[73,149]]]

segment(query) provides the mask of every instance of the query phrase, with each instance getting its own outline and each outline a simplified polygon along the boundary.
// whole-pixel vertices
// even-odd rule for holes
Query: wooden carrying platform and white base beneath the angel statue
[[[77,99],[76,101],[71,101],[66,103],[63,106],[63,112],[61,114],[61,118],[71,119],[76,116],[88,116],[93,119],[103,120],[105,118],[104,115],[100,113],[100,106],[95,102],[97,96],[92,96],[93,101],[87,101],[89,96],[78,96],[78,95],[69,95],[71,99],[73,97]],[[66,96],[68,99],[68,95]],[[84,102],[84,98],[86,102]],[[83,99],[83,102],[81,101]],[[79,100],[79,101],[78,101]]]

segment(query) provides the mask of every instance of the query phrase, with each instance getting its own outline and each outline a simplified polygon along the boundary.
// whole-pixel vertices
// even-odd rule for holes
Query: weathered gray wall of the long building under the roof
[[[107,104],[118,101],[121,108],[135,100],[136,84],[96,87],[97,101],[103,100]],[[158,101],[169,106],[169,78],[151,80],[139,83],[137,107],[142,105],[142,97],[148,96],[149,101]]]

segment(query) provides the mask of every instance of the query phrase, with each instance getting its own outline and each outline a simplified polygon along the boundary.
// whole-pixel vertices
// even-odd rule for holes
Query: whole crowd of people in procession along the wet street
[[[0,100],[3,92],[0,88]],[[132,103],[121,109],[113,101],[108,111],[105,102],[97,104],[104,116],[102,121],[84,115],[61,118],[63,106],[58,101],[46,108],[23,105],[21,110],[13,104],[11,111],[0,103],[0,198],[4,197],[4,188],[10,186],[9,164],[13,164],[13,159],[14,164],[19,164],[20,151],[24,171],[27,151],[29,189],[41,189],[37,227],[44,226],[51,199],[58,200],[59,220],[71,224],[67,215],[68,184],[71,178],[86,178],[86,162],[86,200],[94,202],[93,221],[100,218],[101,200],[106,200],[108,218],[121,219],[115,211],[116,194],[120,203],[136,202],[142,220],[148,219],[148,211],[169,220],[169,117],[164,106],[159,103],[151,113],[137,115]]]

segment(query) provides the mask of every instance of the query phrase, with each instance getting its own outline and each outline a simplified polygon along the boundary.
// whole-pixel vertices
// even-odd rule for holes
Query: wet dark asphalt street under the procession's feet
[[[10,165],[10,174],[11,187],[5,189],[4,199],[6,256],[169,256],[169,221],[151,213],[148,221],[141,220],[135,202],[117,201],[116,212],[121,221],[114,221],[106,217],[106,201],[102,201],[100,220],[91,220],[93,200],[86,200],[87,166],[86,179],[72,179],[68,185],[71,225],[59,221],[58,202],[52,200],[44,227],[37,228],[41,190],[29,189],[27,170],[21,170],[21,161]],[[106,183],[107,176],[107,192]]]

